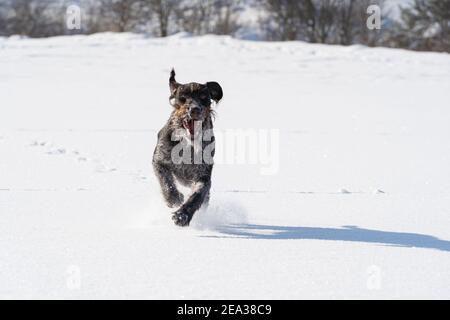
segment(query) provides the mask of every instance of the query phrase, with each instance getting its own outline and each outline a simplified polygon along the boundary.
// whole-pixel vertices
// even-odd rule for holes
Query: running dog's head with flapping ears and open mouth
[[[180,84],[175,80],[175,70],[172,69],[169,78],[170,104],[175,108],[177,122],[191,136],[194,135],[194,123],[205,121],[211,116],[211,102],[222,99],[222,87],[214,81],[200,84],[191,82]]]

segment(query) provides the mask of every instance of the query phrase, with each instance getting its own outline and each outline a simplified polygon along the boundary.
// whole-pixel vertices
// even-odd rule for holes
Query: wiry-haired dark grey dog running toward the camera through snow
[[[172,70],[169,78],[170,101],[174,107],[166,125],[158,132],[158,143],[153,154],[153,169],[161,185],[162,194],[170,208],[179,207],[172,219],[176,225],[187,226],[194,213],[209,201],[211,187],[211,161],[194,163],[174,163],[172,149],[180,143],[173,141],[174,132],[183,132],[185,139],[191,142],[196,132],[194,123],[201,122],[203,132],[212,133],[213,122],[211,101],[216,103],[222,99],[222,88],[217,82],[206,84],[188,83],[180,84],[175,80],[175,71]],[[207,140],[201,139],[201,151],[209,144],[214,143],[214,136]],[[194,156],[194,146],[189,143],[191,155]],[[214,151],[211,153],[214,156]],[[175,181],[191,187],[192,194],[184,201],[183,194],[178,191]]]

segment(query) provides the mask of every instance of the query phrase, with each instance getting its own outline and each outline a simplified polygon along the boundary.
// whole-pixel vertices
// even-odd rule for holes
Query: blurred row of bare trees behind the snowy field
[[[97,32],[153,36],[186,31],[265,40],[303,40],[450,52],[450,0],[414,0],[389,19],[383,0],[0,0],[0,35],[48,37]],[[67,7],[81,8],[80,29],[67,27]],[[382,8],[381,29],[367,27],[367,8]],[[248,9],[258,18],[249,26]]]

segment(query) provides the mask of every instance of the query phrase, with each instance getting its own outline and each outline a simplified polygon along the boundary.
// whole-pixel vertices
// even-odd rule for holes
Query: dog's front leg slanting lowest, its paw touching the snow
[[[189,199],[173,213],[173,221],[179,226],[188,226],[191,222],[194,213],[202,206],[207,198],[209,198],[209,189],[211,188],[211,181],[196,182],[193,192]]]

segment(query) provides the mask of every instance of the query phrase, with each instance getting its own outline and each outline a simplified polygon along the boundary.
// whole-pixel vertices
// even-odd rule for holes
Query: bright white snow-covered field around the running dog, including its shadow
[[[222,85],[219,135],[279,130],[189,228],[151,169],[171,67]],[[448,54],[0,38],[0,108],[1,298],[450,298]]]

